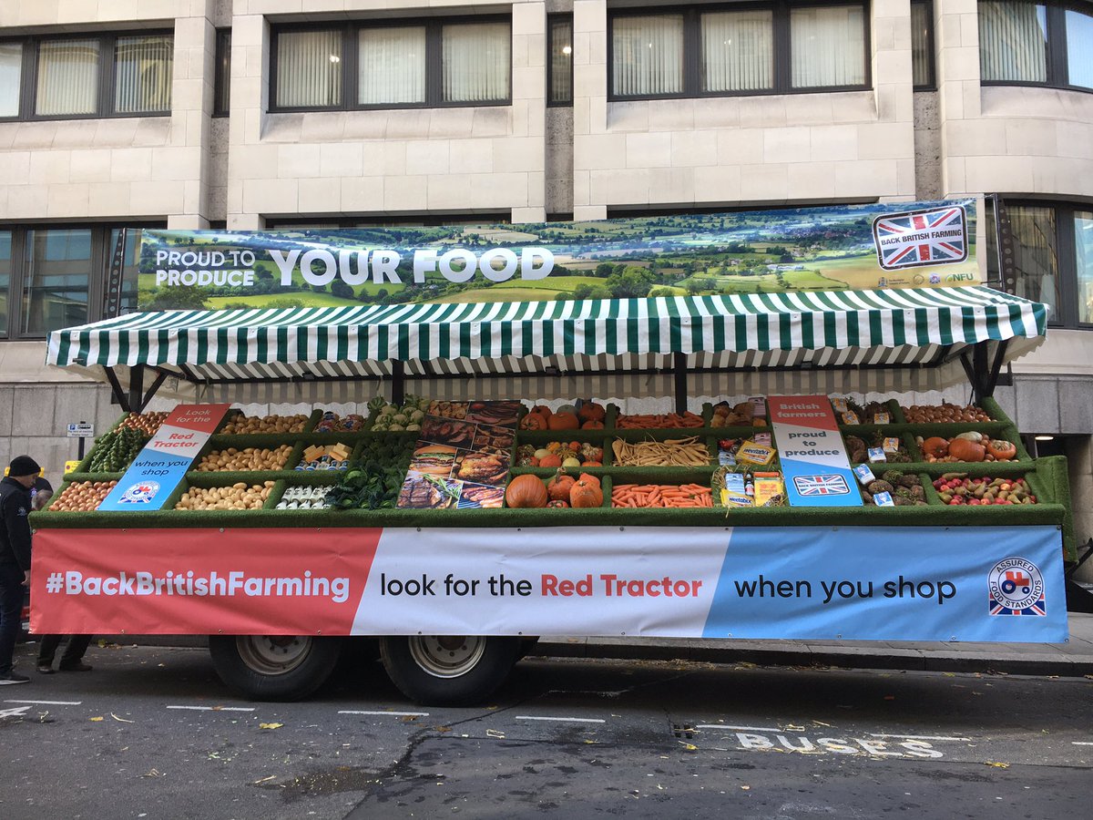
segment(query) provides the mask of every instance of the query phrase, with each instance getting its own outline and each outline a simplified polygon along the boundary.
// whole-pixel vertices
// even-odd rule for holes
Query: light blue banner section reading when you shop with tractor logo
[[[704,637],[1068,639],[1057,527],[733,529]]]

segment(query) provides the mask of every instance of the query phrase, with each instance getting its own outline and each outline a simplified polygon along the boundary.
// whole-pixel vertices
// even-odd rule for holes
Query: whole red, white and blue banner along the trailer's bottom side
[[[31,626],[1068,637],[1055,527],[39,530]]]

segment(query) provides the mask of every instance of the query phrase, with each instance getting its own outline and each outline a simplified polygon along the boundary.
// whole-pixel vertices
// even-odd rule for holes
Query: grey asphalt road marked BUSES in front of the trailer
[[[33,669],[33,647],[16,649]],[[1089,818],[1093,680],[528,658],[486,705],[378,667],[249,703],[203,649],[0,688],[0,818]]]

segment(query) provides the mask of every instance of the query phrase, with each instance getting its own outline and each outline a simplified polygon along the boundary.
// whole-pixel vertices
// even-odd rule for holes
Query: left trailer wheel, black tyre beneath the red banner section
[[[209,654],[228,687],[256,701],[297,701],[330,677],[341,640],[308,635],[210,635]]]

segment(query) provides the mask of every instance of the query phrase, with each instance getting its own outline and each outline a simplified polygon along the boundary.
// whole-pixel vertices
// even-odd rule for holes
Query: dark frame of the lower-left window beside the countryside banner
[[[31,231],[91,231],[91,259],[87,271],[87,321],[99,321],[107,316],[106,288],[109,280],[114,246],[110,233],[119,229],[154,230],[166,227],[163,221],[130,222],[0,222],[0,231],[11,232],[11,277],[8,283],[8,331],[0,333],[0,343],[5,341],[44,341],[51,331],[45,333],[23,330],[26,312],[23,301],[27,284],[27,249]]]

